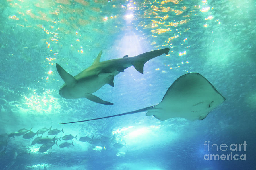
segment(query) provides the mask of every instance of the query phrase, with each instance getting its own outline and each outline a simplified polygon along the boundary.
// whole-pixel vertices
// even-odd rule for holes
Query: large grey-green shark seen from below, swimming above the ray
[[[128,55],[126,55],[123,58],[100,62],[102,54],[101,50],[94,63],[76,76],[67,73],[56,63],[57,71],[65,82],[61,86],[59,94],[66,99],[86,98],[96,103],[113,105],[113,103],[104,101],[92,93],[99,90],[105,84],[114,87],[114,76],[123,72],[124,69],[127,69],[128,67],[133,66],[137,71],[143,74],[143,67],[147,61],[162,54],[168,55],[169,51],[169,48],[164,48],[146,52],[134,57],[128,57]]]

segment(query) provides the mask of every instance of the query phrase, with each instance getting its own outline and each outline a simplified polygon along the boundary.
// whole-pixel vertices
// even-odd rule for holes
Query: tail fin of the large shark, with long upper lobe
[[[155,58],[157,56],[160,56],[162,54],[168,55],[169,51],[170,51],[169,48],[164,48],[161,50],[154,50],[154,51],[140,54],[140,55],[134,57],[131,64],[137,71],[139,71],[141,74],[143,74],[143,67],[147,61],[149,61],[150,59]]]

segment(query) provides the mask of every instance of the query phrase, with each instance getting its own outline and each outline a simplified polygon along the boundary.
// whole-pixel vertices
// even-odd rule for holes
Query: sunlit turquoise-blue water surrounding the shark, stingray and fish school
[[[255,6],[253,0],[2,0],[0,169],[255,169]],[[100,61],[105,61],[163,48],[171,49],[169,55],[148,61],[143,75],[129,67],[115,76],[115,87],[107,84],[94,93],[114,105],[59,95],[64,82],[56,63],[74,76],[101,50]],[[159,121],[141,112],[58,124],[155,105],[189,72],[203,75],[226,98],[204,120]],[[42,144],[31,145],[36,135],[10,135],[51,126],[65,132],[56,138],[72,134],[100,140],[90,144],[74,138],[74,146],[53,145],[40,153]],[[205,151],[205,141],[218,146],[245,141],[247,146]],[[127,147],[117,149],[114,143]],[[106,149],[99,152],[95,146]],[[230,152],[239,159],[204,159]]]

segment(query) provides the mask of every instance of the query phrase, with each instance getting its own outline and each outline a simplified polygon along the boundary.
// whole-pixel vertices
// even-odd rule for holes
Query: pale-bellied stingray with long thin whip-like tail
[[[126,114],[147,111],[146,116],[153,115],[159,120],[170,118],[185,118],[187,120],[203,120],[210,111],[225,101],[225,98],[212,86],[212,84],[199,73],[188,73],[180,76],[169,87],[162,101],[153,106],[138,109],[127,113],[82,120],[86,122]],[[68,123],[77,123],[68,122]],[[67,123],[60,123],[67,124]]]

